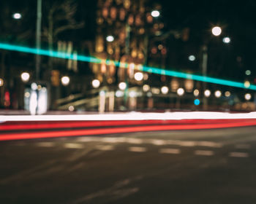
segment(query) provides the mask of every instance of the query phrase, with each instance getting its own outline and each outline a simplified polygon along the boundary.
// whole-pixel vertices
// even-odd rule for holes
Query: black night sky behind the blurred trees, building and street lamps
[[[48,9],[51,1],[42,1],[45,4],[45,9]],[[61,1],[60,1],[61,2]],[[82,1],[78,0],[77,20],[85,21],[85,28],[80,31],[70,31],[68,35],[60,36],[60,38],[70,38],[77,42],[82,40],[94,40],[96,33],[95,13],[97,1]],[[148,5],[160,4],[162,5],[161,17],[159,20],[165,23],[165,31],[178,30],[189,28],[189,40],[181,42],[181,40],[170,40],[170,45],[173,47],[180,47],[178,52],[187,56],[186,52],[195,52],[195,55],[200,55],[199,50],[203,42],[207,40],[209,50],[209,66],[208,74],[211,76],[223,76],[227,79],[244,80],[246,76],[244,71],[250,69],[252,71],[251,78],[255,77],[256,61],[255,61],[255,44],[256,44],[256,21],[255,10],[256,1],[149,1]],[[26,29],[34,30],[35,22],[35,1],[14,1],[3,0],[0,2],[1,21],[7,23],[0,23],[0,39],[6,39],[6,36],[15,36],[18,32],[18,26],[14,25],[13,20],[8,19],[13,12],[25,12],[23,17],[23,26],[20,28],[23,31]],[[9,15],[9,16],[7,16]],[[44,11],[43,14],[44,15]],[[10,21],[10,23],[8,23]],[[44,20],[42,23],[45,23]],[[16,23],[17,24],[17,23]],[[214,39],[211,35],[212,26],[222,27],[222,36]],[[17,28],[13,28],[17,26]],[[34,34],[33,34],[34,35]],[[222,37],[230,36],[231,43],[228,47],[223,47]],[[170,36],[172,38],[172,36]],[[170,46],[168,45],[168,46]],[[172,46],[168,47],[171,51]],[[171,51],[172,52],[172,51]],[[170,52],[170,53],[171,53]],[[177,53],[178,53],[177,52]],[[222,52],[222,56],[218,57]],[[224,53],[225,52],[225,53]],[[189,53],[188,53],[189,54]],[[218,66],[218,60],[221,58],[222,66]],[[198,56],[198,60],[200,57]],[[168,63],[168,65],[175,66],[177,70],[186,70],[187,67],[198,68],[192,72],[200,74],[200,63],[197,61],[196,65],[189,65],[185,62],[187,59],[181,59],[181,65],[178,63]],[[215,65],[214,65],[215,63]],[[216,66],[217,68],[215,68]],[[252,79],[253,80],[253,79]]]

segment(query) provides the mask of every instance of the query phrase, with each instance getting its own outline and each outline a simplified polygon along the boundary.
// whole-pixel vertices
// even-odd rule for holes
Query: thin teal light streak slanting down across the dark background
[[[71,59],[71,60],[80,60],[83,62],[89,62],[89,63],[102,63],[104,60],[101,60],[99,58],[94,58],[90,56],[84,56],[84,55],[69,55],[66,52],[56,52],[56,51],[50,51],[50,50],[37,50],[35,48],[30,48],[30,47],[23,47],[23,46],[18,46],[18,45],[12,45],[12,44],[4,44],[0,43],[0,49],[3,50],[12,50],[12,51],[18,51],[18,52],[26,52],[26,53],[31,53],[35,55],[45,55],[53,58],[64,58],[64,59]],[[106,64],[110,64],[110,60],[105,61]],[[112,61],[115,66],[121,66],[121,63],[118,61]],[[128,67],[127,63],[125,63],[125,68]],[[217,79],[214,77],[209,77],[209,76],[200,76],[196,74],[187,74],[184,72],[179,72],[179,71],[170,71],[170,70],[164,70],[161,68],[156,68],[156,67],[149,67],[149,66],[141,66],[139,68],[140,71],[146,71],[148,73],[153,73],[153,74],[165,74],[167,76],[176,76],[179,78],[183,79],[193,79],[196,81],[200,82],[208,82],[208,83],[213,83],[217,85],[227,85],[230,87],[239,87],[239,88],[244,88],[248,90],[256,90],[256,85],[250,85],[249,87],[245,87],[244,83],[242,82],[233,82],[230,80],[225,80],[225,79]]]

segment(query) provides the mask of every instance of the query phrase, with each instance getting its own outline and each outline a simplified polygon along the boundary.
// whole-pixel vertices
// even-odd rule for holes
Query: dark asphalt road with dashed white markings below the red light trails
[[[256,203],[256,127],[0,142],[0,203]]]

